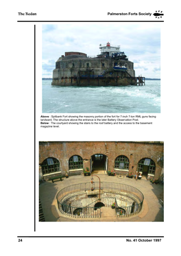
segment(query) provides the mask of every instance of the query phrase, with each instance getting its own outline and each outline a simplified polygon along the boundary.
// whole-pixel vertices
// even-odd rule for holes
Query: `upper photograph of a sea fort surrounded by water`
[[[42,25],[43,113],[160,113],[160,24]]]

